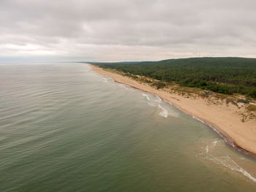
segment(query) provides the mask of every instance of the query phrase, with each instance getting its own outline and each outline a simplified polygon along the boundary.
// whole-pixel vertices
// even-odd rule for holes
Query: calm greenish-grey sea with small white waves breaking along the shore
[[[86,64],[0,64],[0,191],[256,191],[256,161]]]

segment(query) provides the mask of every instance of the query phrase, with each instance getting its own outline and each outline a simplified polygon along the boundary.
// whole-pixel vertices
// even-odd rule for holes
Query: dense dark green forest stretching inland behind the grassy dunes
[[[91,64],[160,82],[256,98],[256,58],[179,58]]]

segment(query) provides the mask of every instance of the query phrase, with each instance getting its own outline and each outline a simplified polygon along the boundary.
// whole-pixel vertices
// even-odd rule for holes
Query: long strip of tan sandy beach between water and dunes
[[[132,88],[138,88],[142,91],[154,93],[174,104],[179,110],[192,115],[194,118],[208,123],[225,139],[228,145],[236,150],[256,157],[256,120],[241,121],[241,116],[236,112],[237,107],[233,104],[209,105],[202,98],[186,98],[176,93],[167,93],[163,90],[157,90],[149,85],[141,84],[129,77],[120,74],[107,72],[97,66],[91,66],[94,72],[113,78],[116,82],[124,83]]]

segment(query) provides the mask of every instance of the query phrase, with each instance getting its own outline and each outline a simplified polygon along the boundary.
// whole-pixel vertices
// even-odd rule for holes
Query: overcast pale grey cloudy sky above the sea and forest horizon
[[[0,0],[0,60],[256,58],[255,0]]]

